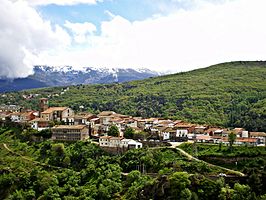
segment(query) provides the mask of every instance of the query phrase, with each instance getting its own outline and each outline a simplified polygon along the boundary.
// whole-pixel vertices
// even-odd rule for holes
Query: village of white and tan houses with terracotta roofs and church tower
[[[39,110],[25,110],[18,105],[1,105],[0,120],[28,124],[41,131],[50,129],[54,141],[96,139],[103,148],[141,148],[144,143],[161,145],[167,142],[194,141],[200,143],[229,144],[228,136],[236,136],[235,145],[264,146],[266,133],[248,132],[243,128],[227,129],[162,118],[142,118],[103,111],[99,114],[75,113],[69,107],[49,107],[47,98],[39,99]],[[108,135],[117,127],[116,136]],[[130,128],[130,138],[124,135]]]

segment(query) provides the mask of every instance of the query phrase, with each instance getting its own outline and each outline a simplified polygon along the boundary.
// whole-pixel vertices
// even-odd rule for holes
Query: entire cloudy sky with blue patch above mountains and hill
[[[0,0],[0,77],[266,60],[265,0]]]

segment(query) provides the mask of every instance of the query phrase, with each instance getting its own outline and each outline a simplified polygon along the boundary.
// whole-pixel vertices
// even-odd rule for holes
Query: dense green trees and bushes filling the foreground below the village
[[[0,128],[1,199],[265,199],[261,176],[226,183],[217,177],[224,171],[190,161],[177,149],[109,155],[90,142],[34,142],[36,137],[41,136],[25,127]],[[234,153],[249,150],[235,148]],[[265,155],[265,149],[254,148],[255,154]]]

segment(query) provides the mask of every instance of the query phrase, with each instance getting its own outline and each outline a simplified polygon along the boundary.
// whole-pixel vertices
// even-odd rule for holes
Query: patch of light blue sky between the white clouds
[[[192,9],[189,0],[106,0],[96,4],[77,5],[40,5],[37,6],[41,15],[54,24],[63,25],[70,22],[91,22],[100,29],[102,21],[110,20],[111,13],[119,15],[130,22],[142,21],[156,15],[167,15],[172,10]]]

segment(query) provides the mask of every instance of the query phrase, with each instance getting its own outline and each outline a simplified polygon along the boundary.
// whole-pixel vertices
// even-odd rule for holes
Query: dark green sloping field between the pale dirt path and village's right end
[[[180,146],[183,150],[195,155],[206,162],[241,171],[245,174],[256,173],[266,176],[266,149],[265,147],[218,146],[213,144],[184,143]]]

